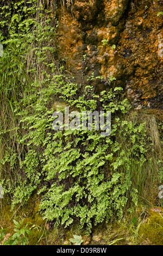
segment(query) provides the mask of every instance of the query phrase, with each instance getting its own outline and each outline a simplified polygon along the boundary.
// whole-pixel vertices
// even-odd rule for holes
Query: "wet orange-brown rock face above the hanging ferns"
[[[137,109],[163,109],[163,1],[67,2],[58,3],[58,45],[78,82],[94,72],[110,86],[114,76]]]

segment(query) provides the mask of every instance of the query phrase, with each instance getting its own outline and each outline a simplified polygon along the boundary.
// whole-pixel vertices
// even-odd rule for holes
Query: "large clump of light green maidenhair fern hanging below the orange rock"
[[[37,187],[37,192],[42,194],[40,208],[44,218],[65,227],[79,220],[81,227],[86,224],[90,231],[92,224],[107,221],[115,214],[121,219],[124,206],[132,199],[126,197],[131,186],[130,157],[137,154],[145,161],[145,151],[141,148],[145,132],[143,126],[117,117],[125,117],[130,108],[126,99],[118,100],[119,90],[110,89],[96,97],[90,87],[91,100],[86,101],[87,87],[80,96],[75,93],[77,84],[68,85],[66,78],[63,82],[55,76],[52,81],[40,92],[41,99],[38,95],[35,102],[28,105],[29,111],[24,112],[22,118],[23,129],[27,132],[18,139],[28,148],[22,161],[27,180],[16,187],[13,205],[22,201],[22,193],[23,199],[28,200]],[[54,109],[51,106],[55,95],[64,99],[70,108],[78,106],[80,113],[82,109],[96,111],[97,106],[110,111],[110,136],[103,137],[100,131],[93,130],[52,130]],[[45,102],[51,105],[46,106]],[[137,130],[139,136],[134,137]],[[124,141],[128,140],[128,135],[134,138],[133,148],[128,151],[115,141],[115,135],[122,136],[122,133]]]

